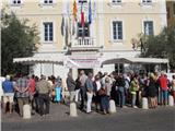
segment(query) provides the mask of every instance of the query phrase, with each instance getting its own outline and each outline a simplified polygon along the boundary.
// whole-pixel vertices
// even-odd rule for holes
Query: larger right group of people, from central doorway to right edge
[[[80,109],[88,114],[92,111],[92,103],[95,104],[96,111],[109,114],[110,99],[114,99],[120,108],[127,106],[138,108],[141,107],[141,98],[148,97],[149,107],[156,108],[158,105],[167,105],[170,94],[175,98],[175,76],[173,75],[171,82],[163,72],[142,75],[115,72],[110,74],[98,72],[93,75],[90,72],[85,75],[84,71],[81,71],[75,81],[69,72],[67,85],[70,100],[74,98],[78,103],[80,99]],[[84,106],[85,99],[86,106]]]

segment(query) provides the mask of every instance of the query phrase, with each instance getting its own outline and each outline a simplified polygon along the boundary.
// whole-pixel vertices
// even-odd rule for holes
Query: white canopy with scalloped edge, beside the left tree
[[[39,58],[39,57],[14,58],[13,62],[23,63],[23,64],[52,63],[52,64],[63,66],[63,61],[59,61],[52,58]]]

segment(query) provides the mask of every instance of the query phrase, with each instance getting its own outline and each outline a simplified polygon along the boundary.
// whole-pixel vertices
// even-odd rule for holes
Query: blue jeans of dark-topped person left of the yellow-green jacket
[[[125,88],[119,86],[118,87],[118,96],[119,96],[119,106],[125,106]]]

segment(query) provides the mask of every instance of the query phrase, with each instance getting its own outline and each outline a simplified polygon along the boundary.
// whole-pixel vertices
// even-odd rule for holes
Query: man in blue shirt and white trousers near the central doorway
[[[92,97],[93,97],[93,74],[90,72],[89,78],[85,81],[85,87],[86,87],[86,96],[88,96],[88,102],[86,102],[86,114],[92,112],[91,110],[91,104],[92,104]]]

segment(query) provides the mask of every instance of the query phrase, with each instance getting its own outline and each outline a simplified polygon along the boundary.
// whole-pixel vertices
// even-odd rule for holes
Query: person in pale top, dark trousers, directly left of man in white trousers
[[[85,96],[86,96],[86,91],[85,91],[85,81],[86,81],[88,76],[85,75],[84,71],[82,70],[80,72],[80,94],[81,94],[81,105],[80,105],[80,109],[83,110],[84,108],[84,100],[85,100]]]

